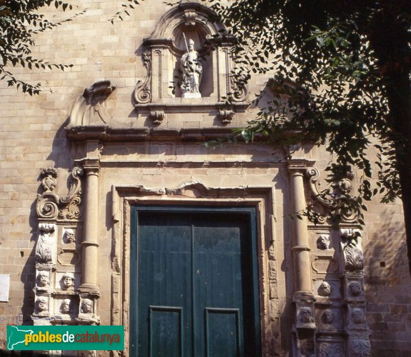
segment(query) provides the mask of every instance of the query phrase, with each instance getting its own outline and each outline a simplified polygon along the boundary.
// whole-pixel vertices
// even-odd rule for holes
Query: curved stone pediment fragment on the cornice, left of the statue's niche
[[[107,124],[110,116],[105,109],[105,100],[115,89],[108,80],[97,81],[86,88],[71,108],[68,127]]]

